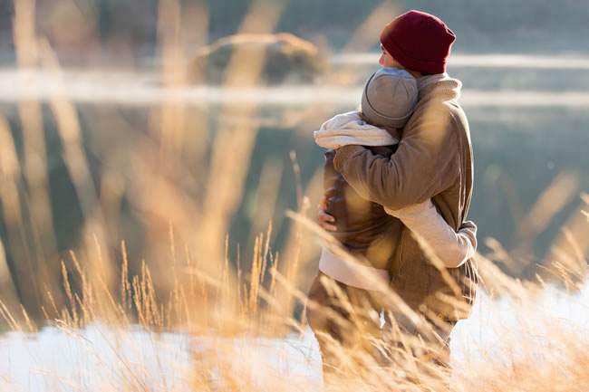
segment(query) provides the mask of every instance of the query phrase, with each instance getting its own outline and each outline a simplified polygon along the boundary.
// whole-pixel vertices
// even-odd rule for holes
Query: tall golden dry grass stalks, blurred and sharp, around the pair
[[[283,12],[282,5],[254,1],[239,31],[273,32]],[[63,89],[64,73],[59,56],[35,29],[34,0],[14,0],[14,9],[18,67],[50,72],[57,86]],[[360,43],[370,40],[370,32],[377,32],[386,22],[382,15],[393,14],[393,10],[389,2],[384,2],[352,33],[347,50],[353,51]],[[206,43],[207,20],[204,3],[182,8],[178,0],[160,2],[160,73],[165,89],[172,91],[187,85],[187,36],[197,34]],[[92,42],[99,42],[97,32],[91,35]],[[238,89],[258,84],[264,61],[263,57],[251,58],[237,51],[224,87]],[[344,72],[336,73],[334,80],[347,81]],[[63,330],[83,328],[101,320],[113,327],[137,323],[153,333],[181,329],[195,336],[284,337],[304,333],[304,312],[295,310],[316,306],[306,301],[304,294],[314,273],[309,261],[316,253],[316,246],[309,243],[314,238],[329,240],[313,223],[313,210],[309,208],[319,195],[318,181],[312,181],[307,189],[300,183],[294,185],[298,203],[296,211],[289,213],[293,219],[292,230],[285,249],[276,252],[271,241],[271,217],[283,213],[273,210],[282,168],[268,163],[262,172],[258,203],[268,201],[270,209],[259,207],[260,217],[251,235],[252,252],[237,253],[235,259],[229,257],[234,244],[227,233],[242,201],[259,126],[256,114],[261,108],[256,103],[225,104],[218,112],[216,129],[208,129],[206,107],[192,110],[183,101],[164,101],[150,110],[149,129],[142,138],[119,148],[115,146],[108,156],[101,157],[105,169],[98,186],[83,148],[79,109],[63,90],[53,91],[48,106],[57,123],[63,159],[84,218],[80,243],[66,255],[57,253],[53,233],[60,216],[53,216],[51,209],[42,105],[39,100],[25,100],[18,105],[24,137],[21,156],[9,123],[0,118],[0,200],[6,227],[0,245],[9,244],[18,263],[13,282],[5,260],[5,246],[0,247],[0,317],[10,330],[35,332],[42,328],[43,322],[29,316],[29,311],[37,307],[46,322]],[[320,118],[326,111],[329,109],[320,108],[310,116]],[[92,119],[98,123],[96,129],[103,130],[108,138],[116,138],[130,126],[117,110],[108,108],[96,109]],[[296,174],[295,155],[292,158]],[[531,236],[541,231],[566,200],[575,197],[575,181],[578,181],[575,177],[558,177],[539,198],[522,228],[522,246],[529,245]],[[144,261],[130,260],[124,239],[117,236],[123,196],[130,197],[144,222]],[[586,195],[583,197],[586,207],[589,200]],[[555,260],[545,277],[552,274],[570,290],[583,284],[587,242],[578,239],[586,230],[586,213],[580,211],[555,244]],[[536,293],[542,290],[543,279],[538,277],[537,282],[524,283],[509,278],[493,261],[517,264],[517,260],[496,242],[489,240],[488,246],[494,250],[488,258],[477,256],[481,288],[495,295],[517,298],[523,304],[533,303]],[[131,268],[131,264],[139,267]],[[23,290],[33,293],[27,296],[33,300],[21,304]],[[434,333],[428,330],[420,315],[403,306],[394,292],[383,295],[422,325],[423,333]],[[351,320],[340,321],[343,328],[362,334],[359,320],[364,316],[362,311],[352,312]],[[551,320],[539,321],[551,324]],[[589,351],[577,344],[575,335],[566,330],[555,329],[553,336],[555,347],[560,350],[547,353],[542,363],[530,354],[529,358],[518,359],[507,368],[493,359],[483,368],[459,364],[453,370],[451,390],[584,390],[589,381],[586,370]],[[335,391],[450,390],[448,368],[414,355],[426,343],[415,336],[401,339],[404,346],[394,349],[386,340],[371,341],[380,352],[378,358],[333,342],[333,351],[346,364],[346,370],[330,387]],[[507,334],[506,339],[525,340],[526,337]],[[256,385],[248,374],[236,373],[231,366],[233,360],[230,345],[221,343],[208,355],[195,353],[194,390],[306,388],[304,380],[285,375],[268,378],[267,385]],[[215,383],[208,377],[213,369],[218,371],[219,379]],[[131,384],[128,390],[151,389],[137,383]]]

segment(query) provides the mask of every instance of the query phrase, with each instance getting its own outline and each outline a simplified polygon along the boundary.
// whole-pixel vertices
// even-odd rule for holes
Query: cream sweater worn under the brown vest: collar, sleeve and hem
[[[358,111],[335,116],[326,121],[321,129],[314,132],[315,142],[323,148],[340,148],[347,145],[391,146],[399,142],[385,129],[374,127],[360,117]],[[407,206],[400,210],[385,211],[398,217],[412,234],[427,244],[447,268],[458,268],[477,251],[477,225],[465,222],[459,232],[455,232],[439,215],[431,199],[424,203]],[[372,290],[372,284],[364,282],[359,276],[373,275],[376,279],[387,280],[390,276],[385,270],[377,270],[363,265],[351,265],[327,249],[323,249],[319,269],[336,281]],[[363,270],[360,272],[360,270]]]

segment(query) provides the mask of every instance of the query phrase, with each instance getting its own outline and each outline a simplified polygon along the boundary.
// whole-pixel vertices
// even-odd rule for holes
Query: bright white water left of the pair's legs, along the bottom
[[[218,371],[226,365],[259,385],[272,377],[289,377],[316,389],[321,381],[319,352],[310,332],[288,339],[224,339],[92,324],[84,330],[52,327],[35,335],[0,337],[0,388],[14,392],[123,386],[188,391],[195,372],[208,374],[208,382],[220,387]]]

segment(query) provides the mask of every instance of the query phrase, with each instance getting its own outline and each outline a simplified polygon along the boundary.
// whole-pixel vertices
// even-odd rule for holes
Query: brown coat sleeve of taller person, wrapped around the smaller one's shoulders
[[[335,169],[362,197],[391,210],[423,203],[459,177],[457,125],[445,105],[416,113],[391,158],[362,146],[338,148]]]

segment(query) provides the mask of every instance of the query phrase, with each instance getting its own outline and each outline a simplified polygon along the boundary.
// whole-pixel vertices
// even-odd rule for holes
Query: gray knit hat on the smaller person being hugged
[[[409,72],[382,68],[366,82],[360,110],[374,126],[403,128],[417,100],[417,81]]]

